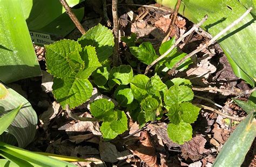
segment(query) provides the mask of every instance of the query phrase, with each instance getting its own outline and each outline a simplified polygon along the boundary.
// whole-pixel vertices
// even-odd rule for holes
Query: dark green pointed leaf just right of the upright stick
[[[143,42],[139,47],[130,47],[130,52],[133,56],[147,65],[151,64],[158,55],[150,42]]]

